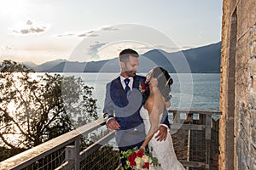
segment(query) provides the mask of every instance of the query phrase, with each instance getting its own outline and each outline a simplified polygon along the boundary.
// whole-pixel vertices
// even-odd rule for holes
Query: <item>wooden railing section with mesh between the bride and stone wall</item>
[[[187,169],[218,169],[218,119],[221,111],[169,110],[177,158]],[[185,138],[181,139],[182,136]],[[175,141],[177,144],[175,144]],[[178,156],[178,153],[183,153]]]

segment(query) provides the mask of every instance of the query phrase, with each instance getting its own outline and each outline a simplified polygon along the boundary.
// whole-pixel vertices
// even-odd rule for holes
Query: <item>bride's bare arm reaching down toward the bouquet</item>
[[[150,141],[150,139],[152,139],[152,137],[154,136],[154,133],[158,130],[158,125],[159,125],[159,121],[160,121],[160,113],[161,110],[159,109],[160,105],[153,105],[153,106],[149,106],[147,108],[148,113],[150,113],[149,115],[149,121],[150,121],[150,129],[148,131],[148,135],[146,136],[146,139],[144,140],[141,148],[145,148],[148,144],[148,142]]]

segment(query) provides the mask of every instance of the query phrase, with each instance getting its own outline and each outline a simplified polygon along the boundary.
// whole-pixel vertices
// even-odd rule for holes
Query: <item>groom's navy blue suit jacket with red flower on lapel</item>
[[[132,90],[125,94],[120,77],[109,82],[106,86],[106,98],[103,112],[119,122],[120,129],[115,132],[115,139],[119,147],[131,146],[143,142],[146,137],[140,109],[143,106],[143,95],[139,85],[145,83],[146,78],[134,77]],[[163,115],[163,123],[169,126],[167,111]]]

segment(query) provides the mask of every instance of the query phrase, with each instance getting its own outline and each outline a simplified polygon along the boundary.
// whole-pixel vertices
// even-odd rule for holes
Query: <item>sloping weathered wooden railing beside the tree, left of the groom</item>
[[[28,169],[79,169],[81,160],[86,159],[86,157],[90,156],[93,151],[102,147],[102,144],[107,144],[108,140],[113,139],[114,133],[108,133],[96,143],[91,144],[90,147],[80,150],[81,138],[93,130],[102,127],[104,124],[104,119],[98,119],[95,122],[90,122],[83,127],[79,127],[69,133],[62,134],[61,136],[51,139],[44,144],[39,144],[30,150],[26,150],[5,161],[1,161],[0,167],[1,169],[26,169],[26,167],[29,167]],[[58,150],[62,150],[60,155],[65,155],[64,160],[59,163],[59,167],[52,165],[48,166],[47,164],[49,164],[49,162],[38,163],[39,160],[45,159],[46,156],[51,156]],[[52,156],[49,157],[49,161],[52,161]],[[42,165],[43,167],[38,167],[38,164],[44,165]]]

